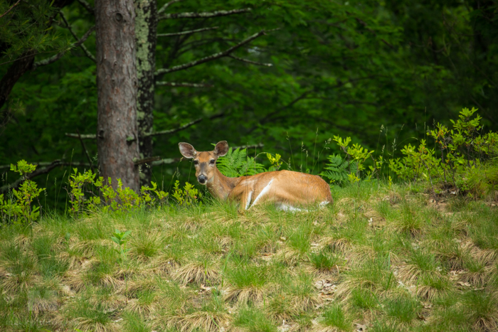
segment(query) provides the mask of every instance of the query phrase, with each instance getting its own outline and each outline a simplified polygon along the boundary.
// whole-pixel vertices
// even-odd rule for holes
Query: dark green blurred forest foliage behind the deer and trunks
[[[16,178],[4,165],[61,160],[36,178],[52,200],[68,164],[97,164],[95,4],[3,0],[0,15],[14,4],[17,16],[0,18],[2,84],[26,52],[34,60],[0,108],[2,184]],[[333,135],[396,154],[462,107],[498,129],[498,1],[185,0],[157,9],[150,137],[160,160],[150,167],[164,188],[177,169],[182,181],[192,176],[179,141],[199,151],[221,140],[264,144],[251,153],[278,153],[302,171],[318,164],[319,173],[339,150],[327,144],[317,157]],[[231,53],[171,70],[255,33]]]

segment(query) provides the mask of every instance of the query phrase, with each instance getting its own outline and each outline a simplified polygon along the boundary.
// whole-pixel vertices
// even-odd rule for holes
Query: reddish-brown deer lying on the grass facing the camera
[[[194,159],[198,183],[220,200],[234,200],[239,210],[262,203],[274,203],[280,210],[301,210],[303,205],[324,206],[332,202],[330,186],[324,179],[296,171],[269,171],[253,176],[229,178],[216,167],[228,153],[228,142],[219,141],[213,151],[196,151],[189,143],[179,143],[182,156]]]

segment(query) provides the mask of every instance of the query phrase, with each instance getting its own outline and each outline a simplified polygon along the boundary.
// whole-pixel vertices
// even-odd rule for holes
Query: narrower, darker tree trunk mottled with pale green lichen
[[[154,122],[154,72],[156,70],[157,2],[135,0],[135,35],[137,39],[137,119],[140,159],[152,157],[152,132]],[[143,164],[140,173],[142,185],[152,179],[152,165]]]

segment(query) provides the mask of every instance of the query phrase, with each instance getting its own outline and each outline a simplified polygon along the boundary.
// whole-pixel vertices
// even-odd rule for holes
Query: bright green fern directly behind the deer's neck
[[[265,167],[254,158],[248,158],[246,149],[236,149],[235,151],[232,148],[228,149],[226,156],[216,161],[216,166],[224,176],[231,178],[255,175],[266,171]]]

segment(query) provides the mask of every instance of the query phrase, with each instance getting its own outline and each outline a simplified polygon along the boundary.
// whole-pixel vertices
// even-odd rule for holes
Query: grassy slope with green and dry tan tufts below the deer
[[[1,331],[497,331],[498,208],[408,186],[0,228]],[[120,255],[115,229],[131,230]]]

